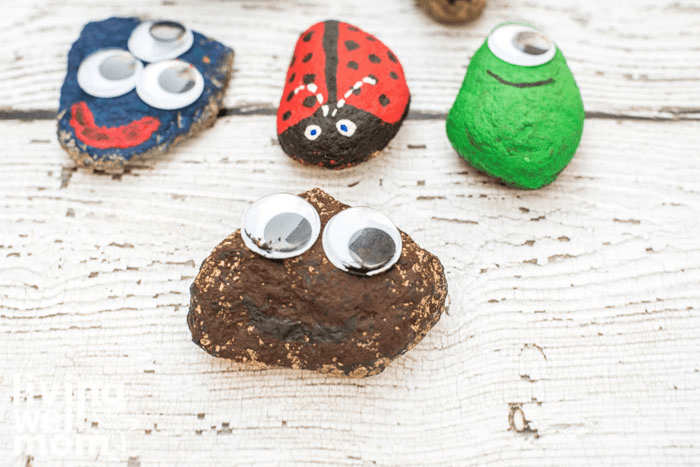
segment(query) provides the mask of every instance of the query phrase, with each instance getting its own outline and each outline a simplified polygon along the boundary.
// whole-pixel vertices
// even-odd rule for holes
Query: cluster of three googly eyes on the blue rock
[[[193,65],[172,59],[189,50],[193,40],[192,31],[179,23],[141,23],[129,38],[128,51],[101,49],[86,57],[78,68],[78,84],[94,97],[118,97],[135,88],[152,107],[186,107],[204,91],[204,78]],[[144,67],[141,60],[157,63]]]

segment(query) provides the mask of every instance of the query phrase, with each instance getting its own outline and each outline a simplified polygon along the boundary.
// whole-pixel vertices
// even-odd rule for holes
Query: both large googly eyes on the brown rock
[[[270,259],[299,256],[316,243],[321,219],[306,200],[287,193],[260,198],[243,216],[246,247]],[[389,270],[401,256],[401,234],[391,220],[367,207],[345,209],[323,231],[323,250],[336,268],[362,276]]]

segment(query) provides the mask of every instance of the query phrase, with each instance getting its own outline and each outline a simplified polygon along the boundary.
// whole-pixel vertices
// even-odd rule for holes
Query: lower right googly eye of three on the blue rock
[[[152,63],[136,85],[139,98],[151,107],[174,110],[187,107],[204,91],[204,78],[194,65],[182,60]]]

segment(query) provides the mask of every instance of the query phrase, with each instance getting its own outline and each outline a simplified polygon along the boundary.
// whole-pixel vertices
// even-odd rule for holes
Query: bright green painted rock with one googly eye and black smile
[[[559,48],[528,25],[505,23],[472,57],[447,116],[447,136],[476,169],[536,189],[571,161],[584,118]]]

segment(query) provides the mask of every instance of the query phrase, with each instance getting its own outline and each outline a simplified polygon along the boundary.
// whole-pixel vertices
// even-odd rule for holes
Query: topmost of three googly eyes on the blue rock
[[[176,21],[144,21],[129,36],[129,50],[144,62],[171,60],[194,44],[192,30]]]

